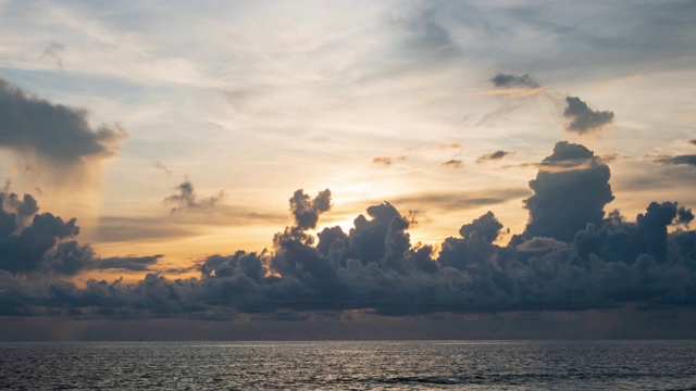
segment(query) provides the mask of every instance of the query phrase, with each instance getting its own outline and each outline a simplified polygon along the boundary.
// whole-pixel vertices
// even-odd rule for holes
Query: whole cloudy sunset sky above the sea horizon
[[[0,340],[696,338],[694,15],[0,0]]]

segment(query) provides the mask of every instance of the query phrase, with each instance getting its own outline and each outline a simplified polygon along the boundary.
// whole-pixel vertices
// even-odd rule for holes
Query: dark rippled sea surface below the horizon
[[[0,389],[696,390],[696,341],[0,343]]]

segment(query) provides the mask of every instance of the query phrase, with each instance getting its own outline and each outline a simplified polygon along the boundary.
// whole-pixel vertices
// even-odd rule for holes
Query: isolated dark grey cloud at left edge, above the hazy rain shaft
[[[0,79],[0,147],[75,164],[114,155],[124,138],[119,125],[94,128],[85,110],[53,104]]]

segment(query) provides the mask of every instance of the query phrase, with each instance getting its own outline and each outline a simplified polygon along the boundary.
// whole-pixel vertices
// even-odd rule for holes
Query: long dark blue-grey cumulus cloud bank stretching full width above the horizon
[[[84,288],[57,278],[25,279],[20,267],[3,267],[0,312],[304,319],[344,311],[422,316],[696,305],[696,232],[687,230],[694,219],[689,209],[652,202],[634,222],[618,211],[605,215],[612,198],[609,168],[580,144],[557,143],[539,167],[526,201],[530,224],[507,245],[496,243],[507,230],[493,212],[463,224],[439,251],[413,244],[408,232],[412,218],[386,201],[368,207],[347,232],[324,227],[314,237],[309,230],[331,209],[331,192],[311,198],[297,190],[289,199],[295,222],[275,235],[271,250],[208,256],[200,262],[199,278],[148,274],[133,283],[89,280]],[[73,265],[138,270],[159,258],[98,260],[71,239],[74,223],[38,216],[46,222],[35,220],[33,229],[57,238],[46,241],[44,248],[57,248],[38,264],[62,260],[45,267],[47,277],[49,272],[70,274]],[[8,227],[5,231],[15,229]],[[32,242],[36,248],[41,241]],[[94,262],[82,266],[85,260]]]

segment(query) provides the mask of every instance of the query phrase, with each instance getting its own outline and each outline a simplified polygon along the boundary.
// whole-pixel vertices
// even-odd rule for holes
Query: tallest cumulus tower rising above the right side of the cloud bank
[[[588,223],[600,224],[604,207],[613,200],[609,166],[581,144],[560,141],[542,161],[534,194],[526,199],[530,220],[523,236],[570,241]]]

